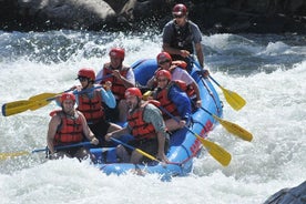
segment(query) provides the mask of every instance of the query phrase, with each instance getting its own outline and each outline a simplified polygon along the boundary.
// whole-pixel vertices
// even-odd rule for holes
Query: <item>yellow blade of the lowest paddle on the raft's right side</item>
[[[205,140],[201,137],[198,134],[194,133],[194,135],[201,141],[201,143],[206,147],[208,153],[218,161],[223,166],[227,166],[232,160],[232,155],[212,141]]]

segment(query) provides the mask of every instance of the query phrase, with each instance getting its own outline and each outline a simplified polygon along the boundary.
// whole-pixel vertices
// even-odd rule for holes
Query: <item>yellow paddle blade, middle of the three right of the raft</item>
[[[220,124],[222,124],[223,128],[225,128],[230,133],[251,142],[253,140],[253,135],[252,133],[249,133],[248,131],[244,130],[243,128],[241,128],[239,125],[222,120],[221,118],[213,115],[213,118],[215,120],[217,120],[220,122]]]

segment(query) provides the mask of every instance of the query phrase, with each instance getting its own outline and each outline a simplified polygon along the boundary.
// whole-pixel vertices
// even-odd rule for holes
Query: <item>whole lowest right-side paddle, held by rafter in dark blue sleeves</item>
[[[165,110],[163,106],[161,105],[156,105],[159,106],[163,112],[165,112],[169,116],[171,116],[172,119],[174,119],[176,122],[180,122],[176,118],[174,118],[167,110]],[[190,128],[184,126],[188,132],[191,132],[193,135],[196,136],[197,140],[200,140],[200,142],[206,147],[206,150],[208,151],[208,153],[216,160],[218,161],[223,166],[227,166],[232,160],[232,155],[224,150],[223,147],[221,147],[220,145],[215,144],[212,141],[205,140],[202,136],[200,136],[198,134],[196,134],[195,132],[193,132]]]

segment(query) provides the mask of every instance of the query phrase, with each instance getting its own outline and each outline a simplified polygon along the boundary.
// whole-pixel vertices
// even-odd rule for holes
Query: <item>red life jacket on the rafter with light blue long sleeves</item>
[[[89,124],[94,124],[104,119],[104,108],[100,90],[94,90],[91,99],[86,93],[78,94],[78,110],[84,114]]]

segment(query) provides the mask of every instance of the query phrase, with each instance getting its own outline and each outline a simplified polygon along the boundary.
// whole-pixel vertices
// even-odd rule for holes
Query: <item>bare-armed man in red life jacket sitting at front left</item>
[[[72,93],[63,93],[61,96],[62,110],[53,112],[49,122],[47,144],[50,151],[49,159],[59,159],[63,156],[76,157],[80,161],[85,160],[90,151],[82,146],[55,151],[54,146],[76,144],[83,141],[83,135],[94,145],[99,141],[88,126],[84,115],[74,109],[75,96]]]

